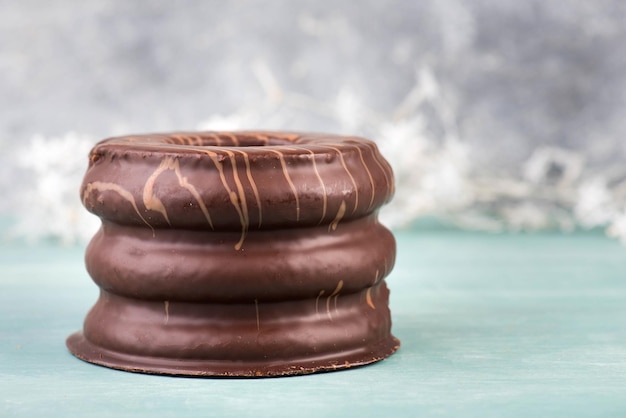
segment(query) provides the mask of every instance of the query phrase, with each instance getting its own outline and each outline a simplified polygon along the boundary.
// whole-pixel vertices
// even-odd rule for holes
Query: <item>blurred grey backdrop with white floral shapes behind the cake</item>
[[[395,227],[626,237],[626,3],[2,1],[8,238],[84,242],[95,141],[288,129],[376,140]]]

